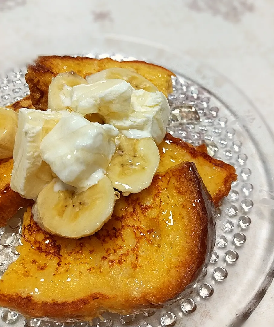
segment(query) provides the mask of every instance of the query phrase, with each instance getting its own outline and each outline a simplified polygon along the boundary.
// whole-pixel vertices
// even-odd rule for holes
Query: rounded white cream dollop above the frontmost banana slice
[[[82,192],[104,177],[118,134],[111,125],[91,123],[71,113],[43,138],[41,158],[62,182]]]

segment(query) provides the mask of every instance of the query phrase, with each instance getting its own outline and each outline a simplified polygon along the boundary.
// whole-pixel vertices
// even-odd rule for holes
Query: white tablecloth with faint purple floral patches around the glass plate
[[[274,132],[272,0],[0,0],[0,71],[33,54],[119,36],[191,56],[231,79]],[[274,285],[246,326],[272,326]]]

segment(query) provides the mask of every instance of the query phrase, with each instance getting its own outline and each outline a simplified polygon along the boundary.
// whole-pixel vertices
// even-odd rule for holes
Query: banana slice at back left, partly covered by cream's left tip
[[[60,73],[54,77],[49,86],[48,108],[53,111],[68,109],[65,102],[66,98],[70,97],[70,88],[79,84],[88,83],[85,78],[74,72]],[[66,88],[66,86],[69,88]]]

